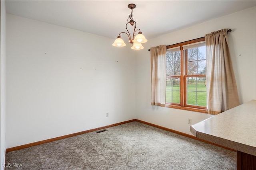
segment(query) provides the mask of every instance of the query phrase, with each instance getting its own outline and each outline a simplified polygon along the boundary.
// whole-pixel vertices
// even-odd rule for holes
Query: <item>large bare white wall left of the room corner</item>
[[[7,14],[7,148],[135,119],[135,57],[113,41]]]

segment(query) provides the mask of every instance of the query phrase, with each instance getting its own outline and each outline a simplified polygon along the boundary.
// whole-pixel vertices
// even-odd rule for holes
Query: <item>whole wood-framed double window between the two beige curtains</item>
[[[205,37],[167,46],[166,107],[206,112]]]

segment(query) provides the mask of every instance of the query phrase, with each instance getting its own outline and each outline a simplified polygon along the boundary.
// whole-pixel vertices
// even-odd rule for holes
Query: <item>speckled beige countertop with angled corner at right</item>
[[[256,100],[190,126],[199,139],[256,156]]]

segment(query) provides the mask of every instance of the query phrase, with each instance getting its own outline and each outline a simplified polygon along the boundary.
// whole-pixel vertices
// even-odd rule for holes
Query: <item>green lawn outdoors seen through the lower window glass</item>
[[[166,102],[180,103],[180,86],[171,86],[170,82],[166,84]],[[195,83],[188,84],[187,100],[187,104],[206,107],[206,86],[204,81],[198,82],[197,88]]]

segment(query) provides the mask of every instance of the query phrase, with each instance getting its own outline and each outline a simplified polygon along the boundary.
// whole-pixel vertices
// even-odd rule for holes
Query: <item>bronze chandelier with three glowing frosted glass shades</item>
[[[136,5],[135,4],[129,4],[128,8],[130,8],[132,10],[132,9],[136,8]],[[127,24],[128,23],[130,23],[133,27],[132,36],[131,36],[130,32],[127,29]],[[132,44],[132,49],[134,49],[134,50],[144,49],[144,47],[141,44],[146,43],[148,40],[144,37],[144,35],[142,35],[142,32],[140,31],[140,29],[136,29],[136,22],[133,20],[132,12],[131,12],[131,14],[129,15],[129,17],[127,19],[126,30],[127,30],[128,33],[126,33],[126,32],[121,32],[121,33],[126,33],[126,35],[128,35],[129,43]],[[136,31],[138,31],[138,35],[135,36]],[[120,36],[121,33],[119,33],[117,39],[112,44],[113,46],[115,46],[115,47],[124,47],[124,46],[126,46],[126,44],[124,43],[124,40],[122,40],[122,38]]]

